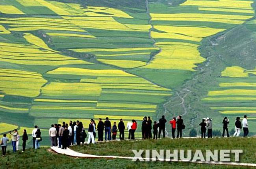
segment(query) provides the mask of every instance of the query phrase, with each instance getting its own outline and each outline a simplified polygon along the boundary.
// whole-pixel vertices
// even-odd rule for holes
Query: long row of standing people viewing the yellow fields
[[[161,137],[165,138],[165,123],[167,120],[165,116],[162,116],[157,121],[154,121],[152,125],[152,120],[150,117],[144,117],[142,124],[141,124],[141,134],[142,139],[158,139]],[[178,116],[177,118],[174,117],[169,122],[171,124],[171,131],[172,131],[172,138],[175,138],[175,132],[177,129],[176,138],[182,138],[182,130],[185,129],[184,121],[182,116]],[[223,119],[223,134],[224,137],[225,133],[227,137],[230,137],[228,132],[228,124],[230,123],[227,117]],[[212,119],[204,118],[202,122],[199,124],[201,126],[201,137],[206,138],[206,130],[208,138],[212,138]],[[116,140],[117,132],[119,132],[119,139],[124,140],[124,131],[125,129],[128,130],[128,139],[134,140],[135,139],[135,130],[137,129],[137,122],[133,119],[132,121],[128,122],[126,127],[124,125],[123,119],[120,119],[118,125],[116,122],[111,125],[111,121],[109,118],[106,117],[106,120],[103,122],[101,118],[98,119],[98,124],[94,119],[91,119],[89,126],[87,128],[88,133],[88,140],[87,145],[90,143],[95,143],[96,138],[96,130],[98,132],[98,141],[104,140]],[[153,136],[152,136],[152,129],[153,129]],[[234,137],[238,137],[241,133],[241,129],[243,129],[243,136],[246,137],[249,134],[248,129],[248,121],[247,116],[245,115],[242,123],[240,121],[240,117],[236,118],[235,122],[235,133]],[[103,140],[103,135],[105,131],[105,139]],[[19,150],[19,132],[17,129],[14,129],[13,132],[9,132],[11,135],[11,141],[13,146],[13,152]],[[63,122],[61,124],[52,124],[49,129],[49,137],[50,137],[50,144],[51,146],[58,146],[61,149],[67,149],[67,147],[71,145],[80,145],[81,143],[84,144],[85,138],[87,138],[87,133],[85,132],[85,128],[83,126],[82,121],[69,121],[69,123]],[[33,149],[39,149],[40,141],[42,141],[41,131],[38,126],[35,125],[35,128],[32,130],[32,138],[33,138]],[[23,130],[22,135],[22,152],[26,149],[26,141],[28,140],[28,134],[26,129]],[[0,143],[2,146],[2,154],[6,154],[6,147],[7,142],[9,139],[7,138],[7,134],[4,134],[4,137],[1,139]]]

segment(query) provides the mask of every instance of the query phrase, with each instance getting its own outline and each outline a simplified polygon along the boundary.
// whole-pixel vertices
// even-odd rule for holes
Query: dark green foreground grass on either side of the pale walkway
[[[251,147],[255,147],[255,138],[213,138],[207,139],[164,139],[164,140],[143,140],[143,141],[112,141],[108,143],[98,143],[89,146],[74,146],[75,151],[95,154],[95,155],[114,155],[114,156],[130,156],[134,157],[131,149],[169,149],[171,152],[174,149],[196,149],[202,151],[206,149],[242,149],[241,162],[255,163],[255,153],[251,151]],[[9,146],[11,148],[11,146]],[[232,156],[234,158],[234,156]],[[233,159],[234,160],[234,159]],[[48,147],[40,148],[36,151],[28,149],[21,153],[12,153],[7,151],[7,155],[1,158],[1,168],[113,168],[119,167],[121,169],[139,169],[139,168],[247,168],[235,167],[228,165],[202,165],[195,163],[184,162],[132,162],[131,160],[121,159],[87,159],[87,158],[72,158],[62,154],[56,154],[49,151]]]

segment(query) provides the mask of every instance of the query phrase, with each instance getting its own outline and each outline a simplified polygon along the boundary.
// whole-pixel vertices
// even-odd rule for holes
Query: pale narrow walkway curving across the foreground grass
[[[128,160],[132,160],[132,159],[137,159],[135,157],[123,157],[123,156],[97,156],[97,155],[92,155],[92,154],[83,154],[80,152],[76,152],[73,151],[69,148],[67,148],[66,150],[64,149],[60,149],[58,147],[51,147],[51,149],[55,152],[57,152],[58,154],[65,154],[67,156],[71,156],[71,157],[76,157],[76,158],[119,158],[119,159],[128,159]],[[149,158],[143,158],[143,160],[152,160]],[[157,161],[163,161],[164,159],[156,159]],[[172,162],[173,160],[171,160]],[[179,160],[179,162],[183,162],[181,160]],[[189,163],[200,163],[200,164],[214,164],[214,165],[236,165],[236,166],[247,166],[247,167],[256,167],[256,164],[253,163],[236,163],[236,162],[200,162],[200,161],[189,161]]]

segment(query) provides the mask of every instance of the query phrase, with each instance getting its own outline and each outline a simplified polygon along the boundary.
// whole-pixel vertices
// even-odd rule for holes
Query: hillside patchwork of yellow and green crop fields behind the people
[[[0,135],[80,119],[256,134],[254,0],[1,0]],[[171,130],[167,125],[167,132]],[[199,134],[199,133],[198,133]],[[169,135],[168,135],[169,136]]]

